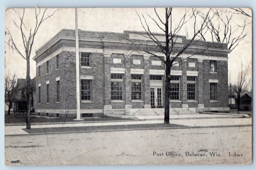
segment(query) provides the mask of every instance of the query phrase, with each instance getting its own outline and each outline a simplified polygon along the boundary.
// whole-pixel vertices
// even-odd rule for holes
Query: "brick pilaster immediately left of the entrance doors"
[[[144,108],[151,108],[150,85],[149,85],[150,55],[144,54],[143,56],[144,56]]]

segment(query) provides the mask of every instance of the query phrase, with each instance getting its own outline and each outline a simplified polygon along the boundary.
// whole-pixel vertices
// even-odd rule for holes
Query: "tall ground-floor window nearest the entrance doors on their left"
[[[142,75],[132,74],[132,100],[141,100]]]

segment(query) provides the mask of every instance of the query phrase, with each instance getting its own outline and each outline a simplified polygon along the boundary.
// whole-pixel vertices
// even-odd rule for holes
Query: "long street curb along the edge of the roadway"
[[[130,130],[161,130],[161,129],[191,129],[191,128],[227,128],[227,127],[245,127],[252,125],[217,125],[217,126],[181,126],[181,127],[167,127],[167,128],[137,128],[137,129],[108,129],[108,130],[88,130],[88,131],[73,131],[73,132],[49,132],[49,133],[28,133],[28,134],[12,134],[4,135],[5,137],[11,136],[30,136],[30,135],[51,135],[51,134],[64,134],[64,133],[91,133],[91,132],[112,132],[112,131],[130,131]]]

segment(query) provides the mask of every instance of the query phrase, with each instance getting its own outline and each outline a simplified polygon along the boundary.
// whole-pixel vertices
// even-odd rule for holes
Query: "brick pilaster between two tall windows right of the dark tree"
[[[188,108],[188,98],[187,98],[187,60],[182,61],[182,108]]]

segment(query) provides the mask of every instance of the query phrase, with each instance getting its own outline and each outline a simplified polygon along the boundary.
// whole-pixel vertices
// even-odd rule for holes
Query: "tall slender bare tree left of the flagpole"
[[[9,41],[5,42],[6,44],[9,45],[9,48],[12,48],[12,50],[14,49],[22,58],[24,58],[27,61],[27,72],[26,72],[26,89],[27,89],[27,116],[26,116],[26,128],[30,129],[30,112],[31,112],[31,100],[32,100],[32,88],[31,83],[30,83],[30,55],[31,55],[31,51],[33,48],[33,44],[34,44],[34,40],[35,40],[35,36],[36,33],[38,32],[39,27],[41,26],[41,24],[48,18],[52,17],[55,12],[57,10],[55,10],[54,12],[52,12],[52,14],[47,15],[46,11],[47,8],[45,8],[43,11],[41,11],[41,9],[39,8],[35,8],[35,21],[36,21],[36,25],[34,26],[34,28],[31,27],[31,23],[24,23],[24,15],[25,15],[25,8],[23,8],[23,12],[20,13],[19,10],[15,10],[13,9],[16,13],[16,15],[18,16],[20,23],[16,23],[15,21],[13,21],[14,25],[18,28],[18,30],[20,31],[21,37],[22,37],[22,42],[23,42],[23,48],[20,48],[17,46],[17,42],[15,42],[15,40],[13,39],[12,33],[10,32],[10,30],[6,27],[6,34],[9,36]],[[29,15],[30,13],[28,13]]]

